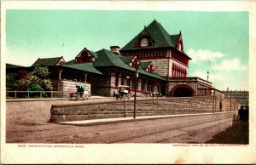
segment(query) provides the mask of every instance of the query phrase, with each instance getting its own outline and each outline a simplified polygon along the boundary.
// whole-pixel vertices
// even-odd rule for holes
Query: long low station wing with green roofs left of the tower
[[[32,71],[37,66],[49,68],[53,90],[62,91],[64,97],[75,90],[76,84],[84,84],[93,95],[111,96],[119,85],[135,91],[135,62],[137,57],[125,57],[102,49],[97,52],[84,48],[74,60],[65,62],[63,57],[38,59],[31,67],[7,65],[7,72]],[[12,66],[13,68],[11,68]],[[137,68],[137,94],[158,93],[165,83],[152,69],[151,63],[141,63]]]

